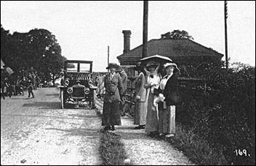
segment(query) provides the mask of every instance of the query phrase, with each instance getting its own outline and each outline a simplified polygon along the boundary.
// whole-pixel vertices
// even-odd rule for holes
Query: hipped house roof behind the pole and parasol
[[[212,48],[206,48],[190,39],[151,39],[148,41],[148,56],[156,54],[167,57],[179,56],[223,56]],[[118,60],[141,59],[143,45],[117,56]]]

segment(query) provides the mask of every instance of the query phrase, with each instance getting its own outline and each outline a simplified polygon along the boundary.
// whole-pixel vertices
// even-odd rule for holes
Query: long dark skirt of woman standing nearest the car
[[[104,102],[102,113],[102,126],[121,126],[119,102]]]

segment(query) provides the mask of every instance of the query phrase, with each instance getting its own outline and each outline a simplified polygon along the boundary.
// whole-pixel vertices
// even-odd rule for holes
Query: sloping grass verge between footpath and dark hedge
[[[176,135],[167,139],[179,151],[182,151],[196,165],[227,165],[222,151],[214,150],[206,140],[200,139],[194,133],[176,126]]]

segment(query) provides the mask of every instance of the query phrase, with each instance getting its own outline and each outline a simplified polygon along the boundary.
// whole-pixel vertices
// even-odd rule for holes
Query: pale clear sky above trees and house
[[[227,1],[227,12],[230,62],[255,66],[255,1]],[[62,56],[105,72],[108,45],[110,62],[123,53],[123,30],[132,31],[131,50],[143,43],[143,1],[1,1],[1,25],[11,33],[47,29]],[[148,40],[175,29],[225,54],[224,1],[148,1]]]

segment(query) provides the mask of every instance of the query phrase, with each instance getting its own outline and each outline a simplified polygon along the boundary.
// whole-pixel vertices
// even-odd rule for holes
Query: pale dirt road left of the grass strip
[[[100,165],[101,119],[90,109],[59,109],[59,90],[1,99],[1,165]]]

